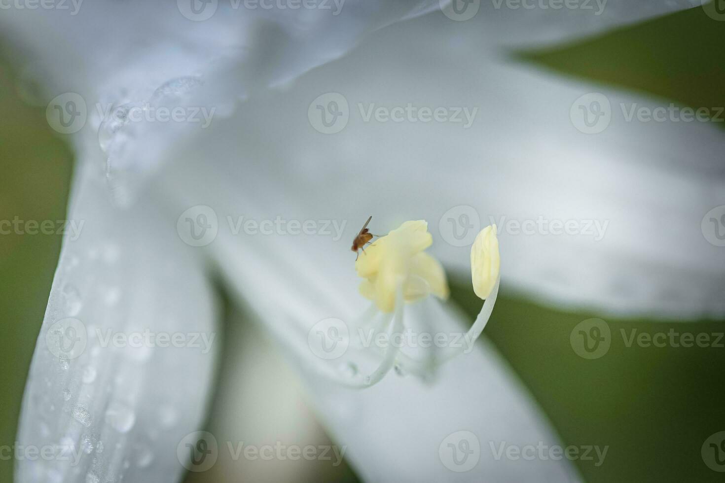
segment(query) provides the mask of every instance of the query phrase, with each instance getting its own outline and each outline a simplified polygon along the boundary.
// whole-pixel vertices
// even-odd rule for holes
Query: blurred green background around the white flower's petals
[[[702,9],[669,15],[599,38],[516,54],[563,75],[647,91],[690,106],[724,106],[725,24]],[[17,72],[0,62],[0,219],[64,219],[72,154],[46,125],[43,107],[28,106]],[[8,115],[12,113],[12,115]],[[725,135],[725,133],[724,133]],[[0,445],[12,445],[30,358],[57,263],[59,235],[0,235]],[[480,301],[461,277],[452,298],[471,319]],[[589,482],[720,482],[700,448],[725,430],[725,348],[627,348],[628,333],[725,332],[725,321],[673,324],[614,319],[540,306],[505,285],[488,335],[558,430],[564,445],[609,446],[605,461],[576,461]],[[613,334],[602,358],[586,360],[570,345],[572,329],[600,316]],[[354,480],[347,467],[331,478]],[[191,478],[190,478],[191,479]],[[194,482],[206,481],[196,475]],[[12,460],[0,461],[0,482]],[[231,480],[230,480],[231,481]]]

